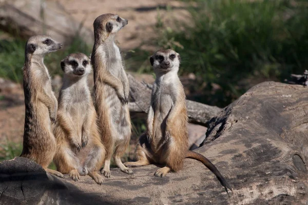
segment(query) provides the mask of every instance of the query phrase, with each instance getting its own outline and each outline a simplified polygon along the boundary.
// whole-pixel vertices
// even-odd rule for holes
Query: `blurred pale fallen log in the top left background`
[[[56,1],[4,0],[0,4],[0,28],[29,38],[47,33],[58,42],[69,44],[76,34],[85,42],[93,43],[91,29],[75,22],[64,7]]]

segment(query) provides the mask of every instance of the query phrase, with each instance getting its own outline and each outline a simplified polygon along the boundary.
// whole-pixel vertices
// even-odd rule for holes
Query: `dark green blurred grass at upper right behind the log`
[[[188,9],[192,22],[174,23],[176,28],[183,29],[165,26],[158,15],[159,37],[150,42],[179,52],[180,74],[192,72],[200,76],[199,87],[206,83],[204,95],[195,100],[224,107],[254,85],[254,81],[282,81],[306,68],[307,1],[195,3],[197,6]],[[149,63],[142,71],[150,71]],[[213,91],[214,84],[221,89]]]

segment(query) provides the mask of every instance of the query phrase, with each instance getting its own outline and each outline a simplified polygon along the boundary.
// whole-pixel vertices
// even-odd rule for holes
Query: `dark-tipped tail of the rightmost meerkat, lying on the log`
[[[218,169],[215,167],[215,165],[213,165],[213,163],[210,162],[205,156],[197,152],[188,151],[185,158],[196,159],[202,162],[205,167],[207,167],[211,172],[216,175],[221,185],[225,188],[226,192],[228,192],[227,188],[233,191],[228,182],[223,178]]]

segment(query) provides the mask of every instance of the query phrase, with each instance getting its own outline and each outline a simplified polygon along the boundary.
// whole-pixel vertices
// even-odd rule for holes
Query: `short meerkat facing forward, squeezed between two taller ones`
[[[54,129],[57,151],[53,161],[57,171],[69,174],[73,180],[89,175],[101,185],[103,178],[97,171],[103,165],[105,147],[87,84],[90,59],[83,53],[69,54],[61,61],[61,68],[64,77]]]

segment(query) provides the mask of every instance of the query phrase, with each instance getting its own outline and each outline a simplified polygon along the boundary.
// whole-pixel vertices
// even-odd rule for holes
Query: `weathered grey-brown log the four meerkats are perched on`
[[[41,192],[36,195],[48,196],[50,200],[45,200],[45,204],[53,204],[56,200],[71,203],[73,199],[79,200],[79,203],[83,200],[85,204],[94,204],[93,200],[96,199],[98,201],[95,204],[306,205],[307,108],[306,88],[266,82],[247,91],[209,122],[204,145],[196,151],[208,157],[225,176],[233,188],[229,195],[213,173],[192,159],[185,160],[184,169],[180,172],[169,173],[163,178],[153,176],[158,169],[155,165],[133,168],[133,176],[115,169],[111,171],[111,178],[105,179],[102,186],[88,176],[74,182],[67,176],[59,179],[53,176],[50,178],[47,174],[48,178],[41,177],[45,183],[40,185],[38,191]],[[23,165],[19,168],[9,165],[12,160],[1,163],[0,180],[3,180],[4,174],[12,174],[16,169],[21,170],[17,173],[27,173],[31,177],[31,170],[23,164],[26,159],[21,160],[15,159],[17,165]],[[3,167],[9,171],[4,172]],[[0,183],[1,204],[10,204],[11,200],[18,203],[25,200],[22,192],[14,191],[24,190],[21,179],[16,181],[10,177],[6,185]],[[39,182],[32,183],[33,190],[39,187]],[[47,188],[54,183],[67,188]],[[12,186],[15,188],[9,191]],[[46,193],[44,190],[48,190],[45,195],[42,194]],[[32,197],[34,193],[31,192]],[[63,195],[67,198],[61,198]]]

